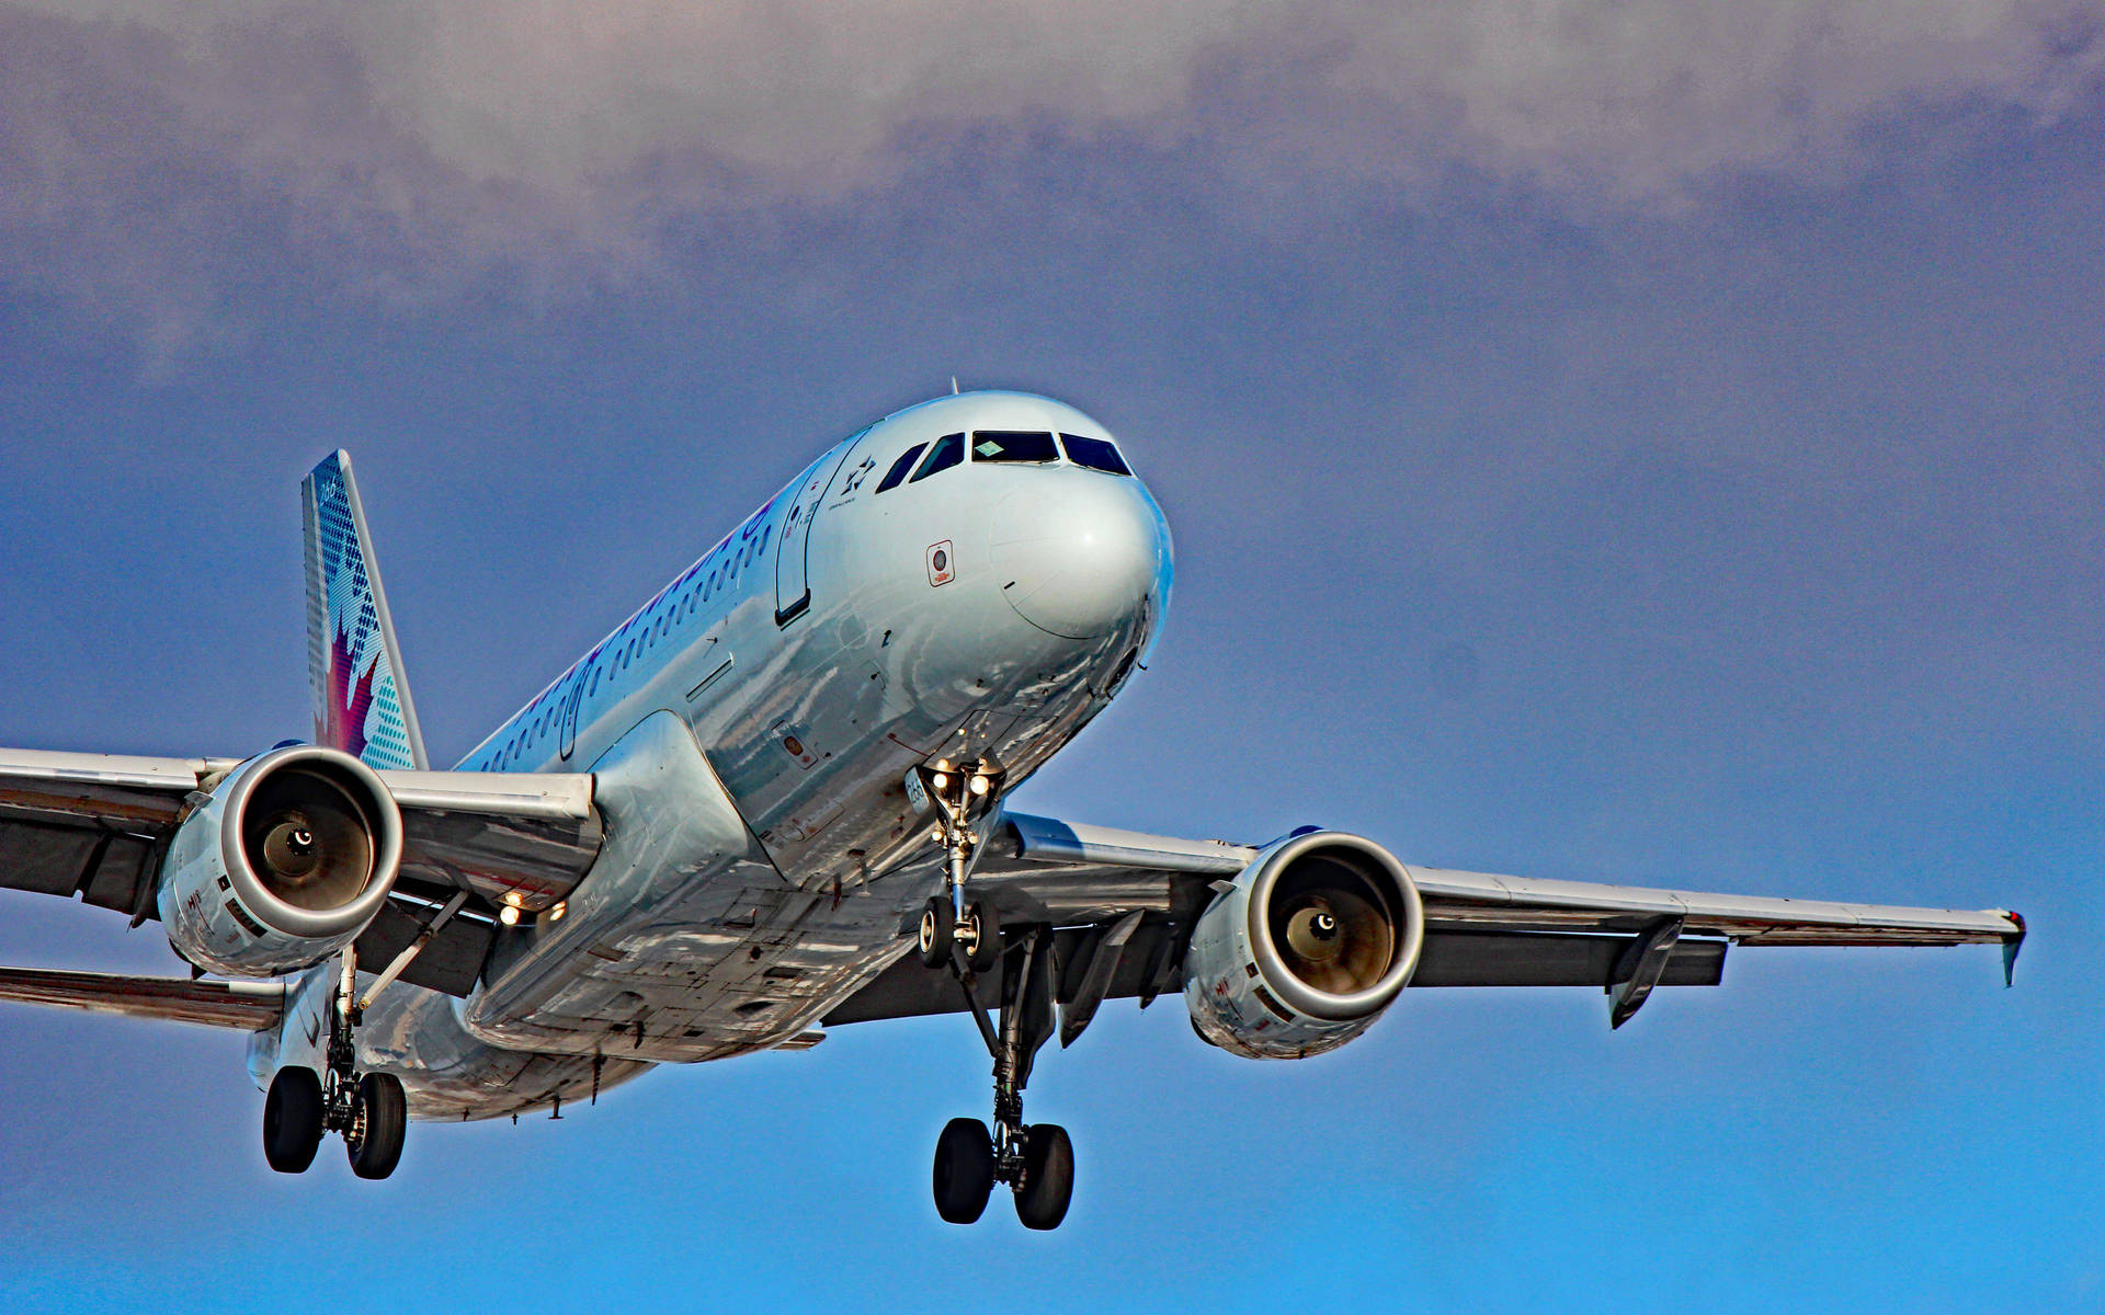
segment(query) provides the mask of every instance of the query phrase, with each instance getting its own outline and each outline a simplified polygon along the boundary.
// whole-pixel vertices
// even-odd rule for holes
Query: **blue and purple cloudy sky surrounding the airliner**
[[[1055,1235],[935,1220],[958,1018],[299,1180],[221,1033],[0,1012],[0,1304],[2105,1309],[2094,4],[0,6],[0,743],[307,726],[356,454],[434,753],[861,423],[1071,400],[1177,532],[1040,810],[2021,909],[1735,951],[1619,1033],[1408,993],[1040,1060]],[[528,15],[528,17],[518,17]],[[0,898],[0,959],[173,970]]]

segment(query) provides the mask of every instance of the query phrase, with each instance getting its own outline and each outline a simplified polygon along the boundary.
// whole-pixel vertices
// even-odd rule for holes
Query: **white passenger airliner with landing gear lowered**
[[[1052,1035],[1181,995],[1206,1044],[1307,1058],[1406,987],[1587,987],[1623,1027],[1730,947],[2002,945],[1947,911],[1408,865],[1349,831],[1181,839],[1008,797],[1160,635],[1170,530],[1074,406],[951,391],[829,446],[434,770],[345,452],[301,484],[314,739],[250,757],[0,751],[0,888],[160,922],[187,978],[0,970],[0,999],[236,1029],[269,1168],[408,1119],[562,1113],[655,1065],[966,1014],[991,1126],[937,1214],[1025,1227],[1074,1145],[1023,1117]]]

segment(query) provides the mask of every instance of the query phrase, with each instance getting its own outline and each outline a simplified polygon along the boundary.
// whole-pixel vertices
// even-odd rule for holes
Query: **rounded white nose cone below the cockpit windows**
[[[1139,480],[1097,471],[1034,471],[998,509],[994,558],[1008,606],[1067,640],[1111,633],[1170,583],[1162,511]]]

